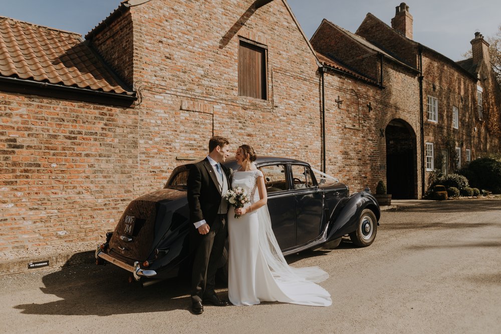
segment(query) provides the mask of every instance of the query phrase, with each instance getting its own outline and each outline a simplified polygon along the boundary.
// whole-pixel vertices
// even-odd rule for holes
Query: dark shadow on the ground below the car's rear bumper
[[[22,304],[15,308],[25,314],[111,315],[189,309],[189,280],[161,281],[143,287],[129,283],[129,272],[114,265],[84,263],[72,265],[42,278],[41,290],[61,300]]]

